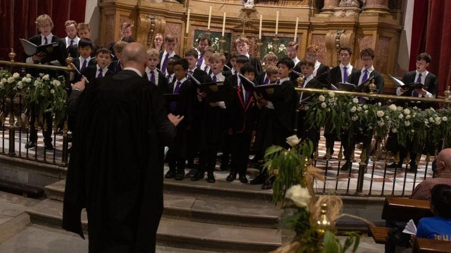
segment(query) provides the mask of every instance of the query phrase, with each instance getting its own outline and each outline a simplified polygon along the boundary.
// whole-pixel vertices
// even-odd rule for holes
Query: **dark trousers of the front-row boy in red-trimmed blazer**
[[[234,133],[232,135],[231,172],[246,175],[248,171],[249,149],[251,148],[251,133]]]

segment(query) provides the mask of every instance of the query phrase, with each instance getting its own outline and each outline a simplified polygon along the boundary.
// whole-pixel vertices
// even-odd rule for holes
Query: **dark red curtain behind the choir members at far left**
[[[0,0],[0,59],[6,60],[10,49],[16,61],[24,61],[19,38],[28,39],[38,34],[34,21],[42,14],[53,20],[52,33],[66,37],[64,22],[68,19],[85,21],[86,0]]]

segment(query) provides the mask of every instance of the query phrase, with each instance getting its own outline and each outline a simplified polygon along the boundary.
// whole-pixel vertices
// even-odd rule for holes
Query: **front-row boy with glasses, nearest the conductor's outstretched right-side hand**
[[[196,52],[197,53],[197,52]],[[185,177],[185,160],[187,157],[187,127],[190,124],[192,85],[187,79],[188,61],[177,59],[174,62],[174,74],[176,80],[170,83],[165,94],[178,94],[176,102],[169,103],[168,112],[185,116],[183,124],[177,126],[177,134],[169,145],[167,161],[169,171],[166,178],[182,180]],[[181,123],[181,122],[180,122]]]

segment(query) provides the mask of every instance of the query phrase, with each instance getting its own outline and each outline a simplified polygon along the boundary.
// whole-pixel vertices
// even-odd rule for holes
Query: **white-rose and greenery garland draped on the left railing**
[[[19,73],[11,74],[0,70],[0,98],[13,99],[22,96],[25,108],[31,109],[37,116],[51,112],[58,124],[65,119],[67,93],[64,86],[65,78],[50,78],[39,74],[35,78],[30,74],[21,77]]]

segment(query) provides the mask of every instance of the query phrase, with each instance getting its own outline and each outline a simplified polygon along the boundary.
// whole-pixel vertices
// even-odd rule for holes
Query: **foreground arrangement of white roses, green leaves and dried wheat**
[[[276,177],[273,202],[282,202],[286,213],[291,213],[285,216],[282,224],[293,229],[296,236],[292,243],[273,252],[345,252],[351,246],[355,252],[360,242],[358,234],[346,233],[343,245],[335,235],[335,221],[344,215],[340,214],[341,198],[315,197],[313,180],[322,180],[322,177],[319,170],[308,163],[312,142],[301,143],[296,135],[288,137],[286,142],[291,146],[289,149],[272,146],[266,150],[264,166]]]

